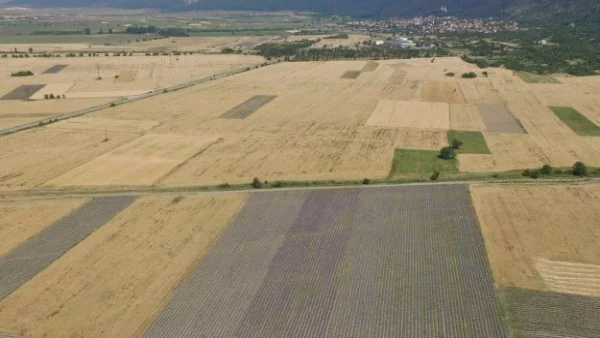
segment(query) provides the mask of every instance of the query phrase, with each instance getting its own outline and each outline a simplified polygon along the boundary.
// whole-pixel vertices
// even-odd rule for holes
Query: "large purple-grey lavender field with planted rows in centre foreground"
[[[144,337],[507,337],[463,185],[256,193]]]

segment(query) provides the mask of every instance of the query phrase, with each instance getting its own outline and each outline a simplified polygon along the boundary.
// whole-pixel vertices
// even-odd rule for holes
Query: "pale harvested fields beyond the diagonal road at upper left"
[[[17,87],[17,84],[71,83],[72,87],[65,92],[67,97],[70,92],[152,90],[264,62],[261,56],[237,54],[97,56],[67,60],[63,61],[68,67],[49,74],[44,71],[56,64],[53,58],[11,58],[3,61],[0,64],[0,76],[10,80],[0,85],[0,96]],[[10,74],[15,69],[31,70],[34,76],[11,78]]]

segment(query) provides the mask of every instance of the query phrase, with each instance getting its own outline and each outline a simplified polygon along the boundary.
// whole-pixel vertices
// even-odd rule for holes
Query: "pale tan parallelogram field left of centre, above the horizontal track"
[[[210,136],[146,134],[45,185],[151,185],[217,140]]]

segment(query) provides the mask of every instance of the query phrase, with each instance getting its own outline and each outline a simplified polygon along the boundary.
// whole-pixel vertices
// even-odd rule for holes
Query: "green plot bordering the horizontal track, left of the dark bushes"
[[[456,159],[443,160],[438,154],[437,150],[396,149],[389,177],[458,172]]]

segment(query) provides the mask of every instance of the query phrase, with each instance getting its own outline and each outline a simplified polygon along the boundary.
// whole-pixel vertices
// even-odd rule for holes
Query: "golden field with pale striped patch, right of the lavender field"
[[[471,194],[497,285],[600,297],[600,184]]]

